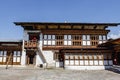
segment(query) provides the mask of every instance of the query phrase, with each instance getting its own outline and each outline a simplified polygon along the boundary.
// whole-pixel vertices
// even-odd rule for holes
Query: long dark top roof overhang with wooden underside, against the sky
[[[120,23],[79,23],[79,22],[14,22],[24,29],[105,29],[108,26],[118,26]]]

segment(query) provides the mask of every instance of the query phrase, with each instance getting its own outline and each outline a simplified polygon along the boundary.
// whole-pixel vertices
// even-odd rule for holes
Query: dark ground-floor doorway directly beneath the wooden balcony
[[[36,53],[34,51],[27,51],[27,54],[26,54],[27,65],[35,65],[35,62],[36,62],[35,55],[36,55]]]

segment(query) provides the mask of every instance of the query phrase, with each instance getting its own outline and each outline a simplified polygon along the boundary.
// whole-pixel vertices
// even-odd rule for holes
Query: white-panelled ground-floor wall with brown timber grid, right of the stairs
[[[65,54],[65,61],[64,61],[65,69],[100,70],[100,69],[110,68],[113,65],[112,60],[104,60],[104,58],[97,59],[96,56],[94,56],[94,55],[93,55],[94,56],[94,58],[93,58],[90,55],[86,56],[86,54],[85,55],[81,55],[80,53],[78,53],[77,55],[74,55],[74,54],[75,53],[73,53],[71,55]],[[83,56],[84,56],[84,58],[83,58]],[[101,55],[101,56],[103,56],[103,55]]]

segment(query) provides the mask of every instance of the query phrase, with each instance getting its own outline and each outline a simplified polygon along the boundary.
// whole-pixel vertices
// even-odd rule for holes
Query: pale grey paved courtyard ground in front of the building
[[[63,69],[4,69],[0,68],[0,80],[120,80],[120,72],[109,70]]]

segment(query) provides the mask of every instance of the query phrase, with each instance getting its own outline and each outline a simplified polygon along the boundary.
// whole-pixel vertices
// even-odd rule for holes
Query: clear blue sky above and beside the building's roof
[[[120,23],[120,0],[0,0],[0,39],[22,39],[13,22]],[[120,37],[120,26],[109,28]]]

